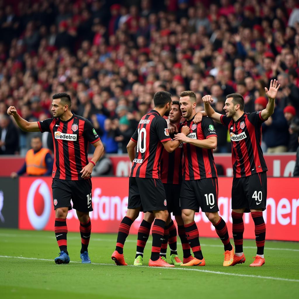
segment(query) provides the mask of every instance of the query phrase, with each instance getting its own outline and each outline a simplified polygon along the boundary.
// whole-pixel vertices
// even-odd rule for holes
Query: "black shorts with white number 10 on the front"
[[[207,178],[183,181],[181,187],[181,210],[218,212],[218,179]]]

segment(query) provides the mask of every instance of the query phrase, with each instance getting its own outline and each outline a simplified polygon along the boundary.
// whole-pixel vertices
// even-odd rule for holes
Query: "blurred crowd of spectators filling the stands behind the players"
[[[245,111],[266,107],[277,78],[263,149],[296,151],[299,132],[299,6],[295,0],[0,0],[0,154],[25,155],[30,134],[8,118],[51,117],[51,96],[68,92],[72,111],[91,120],[106,153],[126,153],[153,94],[243,95]],[[227,130],[216,152],[229,152]],[[44,147],[53,149],[50,134]]]

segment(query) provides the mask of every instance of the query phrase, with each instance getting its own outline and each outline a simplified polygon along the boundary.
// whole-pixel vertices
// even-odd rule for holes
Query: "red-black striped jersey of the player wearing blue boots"
[[[88,164],[88,144],[100,140],[89,120],[73,114],[63,121],[48,118],[37,122],[41,132],[50,132],[54,143],[52,178],[81,180],[80,171]]]

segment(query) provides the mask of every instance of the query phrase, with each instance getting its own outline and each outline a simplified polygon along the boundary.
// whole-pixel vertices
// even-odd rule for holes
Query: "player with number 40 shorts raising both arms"
[[[269,102],[266,109],[258,112],[244,112],[244,99],[241,94],[226,96],[223,108],[225,115],[215,112],[210,106],[210,103],[213,102],[210,95],[202,98],[206,115],[228,127],[231,137],[234,171],[231,190],[231,217],[236,250],[233,265],[245,262],[243,253],[244,212],[251,213],[257,245],[257,255],[249,266],[263,266],[265,263],[266,225],[263,219],[263,210],[266,209],[266,171],[268,169],[260,146],[261,126],[274,112],[274,101],[280,87],[280,85],[277,86],[277,83],[276,80],[271,80],[269,90],[265,87]]]

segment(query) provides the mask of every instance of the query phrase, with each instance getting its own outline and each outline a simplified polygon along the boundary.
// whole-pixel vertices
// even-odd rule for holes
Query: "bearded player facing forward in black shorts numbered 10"
[[[185,166],[180,194],[181,210],[187,240],[194,254],[193,259],[181,266],[205,266],[199,232],[194,222],[199,208],[213,224],[224,245],[223,266],[231,266],[234,248],[226,223],[218,214],[218,181],[213,158],[213,149],[217,146],[214,123],[210,118],[203,118],[199,124],[193,122],[196,115],[196,94],[193,91],[182,91],[179,96],[182,115],[186,118],[182,125],[190,128],[190,134],[178,133],[174,140],[183,142]]]

